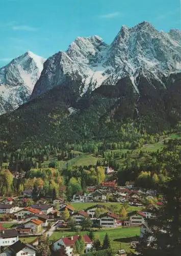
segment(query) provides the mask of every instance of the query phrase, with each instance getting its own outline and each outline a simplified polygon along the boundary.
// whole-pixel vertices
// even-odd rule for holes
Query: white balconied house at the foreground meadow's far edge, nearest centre
[[[99,217],[99,220],[100,220],[101,227],[117,227],[118,226],[117,215],[112,213],[102,214]]]

